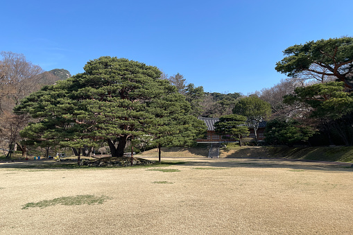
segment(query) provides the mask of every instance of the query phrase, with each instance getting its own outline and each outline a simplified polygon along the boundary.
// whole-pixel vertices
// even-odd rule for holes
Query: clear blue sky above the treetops
[[[353,1],[5,1],[0,51],[82,73],[103,55],[181,73],[205,92],[273,87],[284,49],[352,37]]]

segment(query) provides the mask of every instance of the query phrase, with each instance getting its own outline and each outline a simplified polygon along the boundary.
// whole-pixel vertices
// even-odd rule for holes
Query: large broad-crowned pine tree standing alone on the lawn
[[[84,73],[44,87],[22,101],[17,112],[28,112],[41,119],[40,123],[28,126],[27,134],[41,125],[36,138],[60,139],[67,146],[95,146],[98,141],[107,141],[112,156],[121,157],[129,140],[152,133],[156,120],[169,123],[163,121],[158,108],[153,108],[155,103],[170,96],[179,96],[169,103],[170,110],[180,110],[180,102],[184,103],[168,80],[159,79],[161,71],[157,67],[101,57],[87,62],[84,69]],[[165,119],[170,116],[167,113]],[[180,112],[178,119],[185,116],[189,116],[187,112]],[[180,124],[192,125],[194,121]]]

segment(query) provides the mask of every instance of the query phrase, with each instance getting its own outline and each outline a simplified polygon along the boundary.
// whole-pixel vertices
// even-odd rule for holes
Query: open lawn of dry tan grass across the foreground
[[[353,234],[350,164],[163,160],[0,162],[0,234]]]

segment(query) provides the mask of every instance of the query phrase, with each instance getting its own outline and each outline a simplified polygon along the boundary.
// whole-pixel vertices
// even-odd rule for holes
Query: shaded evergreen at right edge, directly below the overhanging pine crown
[[[353,93],[346,92],[344,82],[327,82],[298,87],[294,94],[284,96],[284,103],[299,102],[307,106],[307,115],[300,112],[304,121],[318,120],[331,140],[331,135],[341,137],[345,145],[352,145]],[[318,126],[320,126],[318,125]],[[333,132],[332,134],[330,132]]]

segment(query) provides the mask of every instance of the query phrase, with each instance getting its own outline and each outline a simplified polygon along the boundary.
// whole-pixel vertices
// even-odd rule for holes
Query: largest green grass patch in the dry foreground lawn
[[[43,200],[40,202],[30,202],[25,204],[22,209],[28,209],[29,207],[51,207],[57,204],[63,204],[66,206],[80,205],[80,204],[103,204],[105,200],[112,199],[105,195],[100,197],[94,195],[77,195],[72,197],[54,198],[53,200]]]

